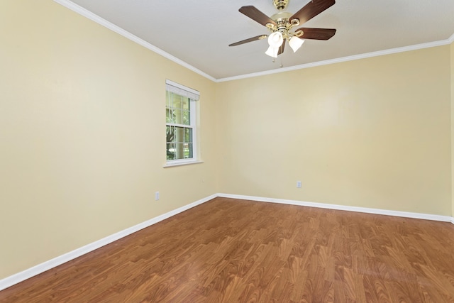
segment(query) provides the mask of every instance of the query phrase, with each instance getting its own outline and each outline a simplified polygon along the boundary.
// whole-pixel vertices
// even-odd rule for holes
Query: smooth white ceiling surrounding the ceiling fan
[[[272,62],[265,55],[266,39],[228,47],[269,33],[238,9],[253,5],[271,16],[277,12],[272,0],[72,2],[215,79],[266,72],[280,65],[289,68],[423,43],[448,43],[454,34],[454,0],[337,0],[303,25],[336,28],[333,38],[306,40],[297,53],[287,47]],[[290,0],[287,11],[295,13],[308,2]]]

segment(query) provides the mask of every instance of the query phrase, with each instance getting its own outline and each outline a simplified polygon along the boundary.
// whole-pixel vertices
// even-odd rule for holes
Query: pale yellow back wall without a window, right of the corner
[[[221,192],[450,216],[449,60],[446,45],[218,84]]]

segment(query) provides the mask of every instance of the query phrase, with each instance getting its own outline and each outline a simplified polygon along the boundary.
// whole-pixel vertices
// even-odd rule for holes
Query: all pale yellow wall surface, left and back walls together
[[[452,45],[216,84],[51,0],[0,43],[0,279],[216,192],[454,214]],[[165,79],[203,164],[162,168]]]

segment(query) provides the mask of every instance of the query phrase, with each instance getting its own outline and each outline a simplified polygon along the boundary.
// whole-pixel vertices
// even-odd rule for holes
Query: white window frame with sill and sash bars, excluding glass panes
[[[190,120],[189,125],[167,122],[167,92],[177,94],[179,96],[186,97],[187,99],[189,99],[189,120]],[[192,129],[192,158],[167,160],[167,136],[166,136],[166,138],[165,138],[166,164],[164,167],[187,165],[187,164],[201,162],[199,160],[198,140],[197,140],[198,126],[197,126],[196,101],[198,101],[198,100],[199,100],[199,92],[196,91],[195,89],[185,87],[182,84],[178,84],[176,82],[172,82],[172,81],[166,79],[166,106],[165,106],[165,109],[166,109],[166,121],[165,121],[166,135],[167,135],[167,126],[191,128]]]

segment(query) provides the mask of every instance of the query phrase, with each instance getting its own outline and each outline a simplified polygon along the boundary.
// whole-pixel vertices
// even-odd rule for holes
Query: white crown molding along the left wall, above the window
[[[89,18],[90,20],[98,23],[101,26],[109,28],[111,31],[114,31],[115,33],[123,35],[123,37],[128,38],[129,40],[138,43],[139,45],[142,45],[144,48],[148,48],[148,50],[151,50],[157,53],[158,55],[162,55],[162,57],[165,57],[168,60],[171,60],[181,65],[182,67],[186,67],[188,70],[192,70],[193,72],[196,72],[197,74],[206,77],[206,79],[210,79],[211,81],[216,82],[216,78],[211,77],[210,75],[206,74],[205,72],[202,72],[201,70],[190,65],[189,63],[184,62],[183,60],[179,60],[177,57],[174,57],[169,53],[166,53],[164,50],[157,48],[155,45],[152,45],[146,42],[145,40],[138,38],[136,35],[133,35],[132,33],[123,30],[123,28],[116,26],[114,23],[106,21],[106,19],[101,18],[100,16],[96,15],[95,13],[92,13],[91,11],[88,11],[87,9],[84,9],[82,6],[74,4],[74,2],[69,0],[54,0],[54,1],[57,2],[57,4],[61,4],[62,6],[65,6],[67,9],[74,11],[75,13],[79,13],[79,15]]]

